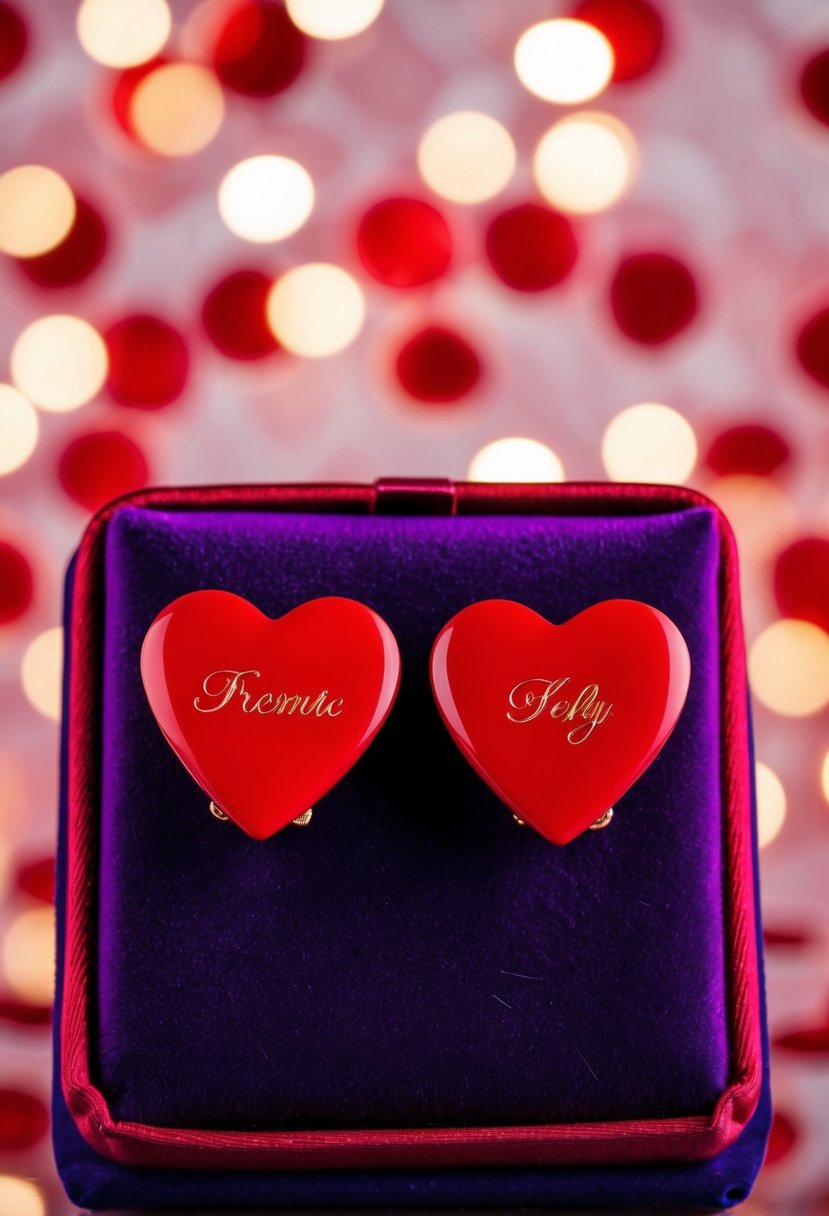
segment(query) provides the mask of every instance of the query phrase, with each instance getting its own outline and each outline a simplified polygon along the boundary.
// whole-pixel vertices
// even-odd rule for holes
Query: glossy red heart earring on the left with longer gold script
[[[229,591],[193,591],[147,630],[141,676],[191,776],[264,840],[366,750],[397,694],[400,654],[356,599],[310,599],[271,620]]]

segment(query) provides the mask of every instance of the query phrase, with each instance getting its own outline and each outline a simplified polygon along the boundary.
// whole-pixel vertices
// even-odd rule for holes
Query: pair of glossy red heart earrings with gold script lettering
[[[397,696],[400,652],[356,599],[310,599],[272,620],[227,591],[194,591],[150,626],[141,675],[214,815],[263,840],[306,823],[366,750]],[[636,599],[605,599],[564,625],[484,599],[440,630],[430,677],[473,769],[519,822],[563,845],[605,826],[656,758],[690,659],[677,626]]]

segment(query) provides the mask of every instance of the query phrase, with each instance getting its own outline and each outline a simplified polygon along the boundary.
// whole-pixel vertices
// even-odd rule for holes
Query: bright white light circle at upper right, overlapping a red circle
[[[569,17],[530,26],[515,44],[515,72],[524,88],[560,106],[598,96],[613,66],[613,47],[604,34]]]

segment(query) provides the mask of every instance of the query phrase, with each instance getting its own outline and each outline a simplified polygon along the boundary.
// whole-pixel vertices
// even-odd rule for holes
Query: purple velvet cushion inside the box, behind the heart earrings
[[[709,1111],[727,1083],[718,545],[711,513],[354,517],[124,508],[106,551],[96,1080],[123,1120],[546,1124]],[[400,697],[306,829],[219,823],[154,724],[143,634],[198,587],[276,617],[363,599]],[[450,742],[428,654],[474,599],[630,596],[688,703],[611,827],[556,849]],[[278,782],[278,773],[273,775]]]

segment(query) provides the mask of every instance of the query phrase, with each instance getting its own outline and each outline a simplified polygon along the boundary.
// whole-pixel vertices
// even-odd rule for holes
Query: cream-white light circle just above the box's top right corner
[[[611,420],[602,440],[602,461],[614,482],[681,485],[697,463],[697,438],[676,410],[644,401]]]

